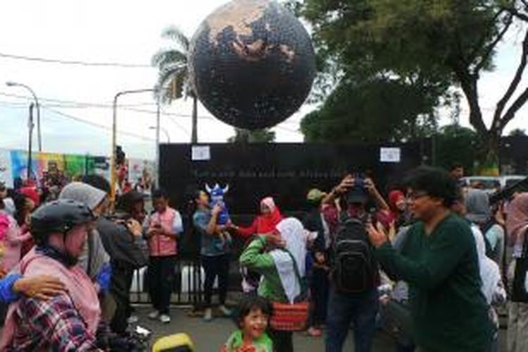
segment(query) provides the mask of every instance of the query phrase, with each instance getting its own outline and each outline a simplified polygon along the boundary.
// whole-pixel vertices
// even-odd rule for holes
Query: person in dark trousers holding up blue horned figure
[[[192,220],[197,234],[201,238],[201,262],[206,272],[206,282],[203,285],[206,313],[203,317],[206,322],[213,320],[213,309],[211,306],[213,296],[213,284],[218,277],[218,296],[220,301],[220,312],[225,316],[232,315],[230,309],[225,306],[227,298],[227,279],[230,270],[230,249],[227,242],[223,241],[220,234],[227,230],[226,226],[218,225],[218,214],[222,207],[218,204],[213,209],[209,206],[209,196],[205,191],[196,191],[194,194],[194,211]]]

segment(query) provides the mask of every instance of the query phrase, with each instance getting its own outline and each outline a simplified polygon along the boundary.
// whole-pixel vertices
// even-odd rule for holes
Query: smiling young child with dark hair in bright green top
[[[271,316],[271,303],[263,297],[251,296],[241,301],[237,326],[220,352],[272,352],[273,343],[266,334]]]

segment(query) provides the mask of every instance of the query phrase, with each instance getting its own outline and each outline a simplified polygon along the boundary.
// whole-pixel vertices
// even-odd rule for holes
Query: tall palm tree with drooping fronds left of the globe
[[[170,39],[174,46],[161,49],[152,57],[152,65],[158,67],[158,84],[163,90],[158,91],[163,103],[171,103],[173,100],[192,98],[192,134],[191,143],[198,143],[198,99],[192,89],[189,70],[187,68],[190,40],[177,27],[165,28],[161,34],[162,38]]]

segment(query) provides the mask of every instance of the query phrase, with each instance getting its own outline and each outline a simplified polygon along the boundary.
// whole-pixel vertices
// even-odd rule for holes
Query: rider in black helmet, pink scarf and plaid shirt
[[[101,310],[92,280],[77,265],[95,220],[82,203],[47,203],[31,218],[36,248],[23,258],[20,272],[37,277],[53,272],[67,293],[48,301],[23,297],[9,307],[1,351],[100,351],[96,338]],[[103,341],[103,339],[99,340]]]

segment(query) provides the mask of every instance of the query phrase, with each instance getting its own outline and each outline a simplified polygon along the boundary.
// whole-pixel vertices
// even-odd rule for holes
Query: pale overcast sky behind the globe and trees
[[[161,39],[163,28],[177,25],[189,37],[201,21],[225,0],[150,1],[2,1],[0,54],[149,65],[158,49],[170,45]],[[480,85],[484,113],[491,115],[510,81],[520,54],[520,38],[508,37],[501,48],[497,70],[486,74]],[[116,68],[39,63],[0,57],[0,148],[27,148],[27,84],[41,99],[42,139],[45,151],[61,153],[110,153],[111,101],[126,89],[150,88],[155,68]],[[528,80],[523,81],[523,89]],[[8,95],[5,95],[8,94]],[[73,101],[75,103],[67,103]],[[99,104],[100,107],[86,106]],[[151,94],[123,96],[118,112],[118,143],[130,156],[153,158],[156,106]],[[70,107],[65,108],[65,105]],[[73,105],[73,106],[71,106]],[[278,142],[301,142],[298,122],[310,106],[278,125]],[[130,110],[134,109],[134,111]],[[137,111],[140,110],[140,111]],[[163,107],[161,124],[172,142],[189,142],[191,104],[178,101]],[[467,109],[463,109],[467,114]],[[527,110],[508,126],[527,128]],[[201,142],[225,142],[234,131],[199,106]],[[461,117],[467,125],[466,115]],[[79,120],[90,122],[89,125]],[[446,120],[445,118],[443,120]],[[97,127],[101,126],[101,127]],[[106,127],[106,128],[104,128]],[[162,141],[166,139],[162,133]],[[36,139],[34,139],[36,141]]]

